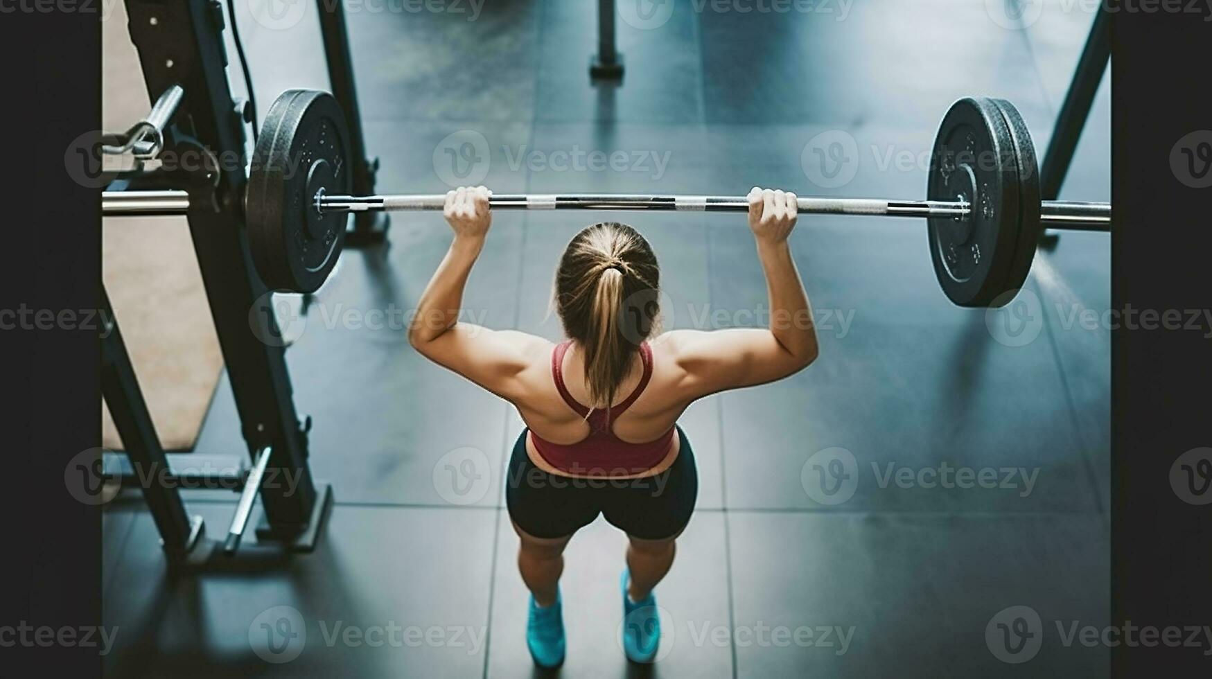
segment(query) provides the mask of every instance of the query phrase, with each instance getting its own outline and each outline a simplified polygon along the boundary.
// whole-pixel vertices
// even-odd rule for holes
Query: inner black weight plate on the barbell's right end
[[[930,256],[947,297],[987,307],[1006,291],[1018,245],[1018,165],[1001,112],[987,98],[955,102],[939,126],[928,200],[967,200],[967,221],[927,219]]]

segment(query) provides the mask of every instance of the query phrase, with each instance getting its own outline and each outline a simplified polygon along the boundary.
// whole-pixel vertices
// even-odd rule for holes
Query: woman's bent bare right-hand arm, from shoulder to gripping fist
[[[795,194],[756,187],[749,192],[749,228],[770,298],[768,329],[668,333],[668,347],[696,398],[782,380],[817,359],[812,307],[787,242],[797,217]]]

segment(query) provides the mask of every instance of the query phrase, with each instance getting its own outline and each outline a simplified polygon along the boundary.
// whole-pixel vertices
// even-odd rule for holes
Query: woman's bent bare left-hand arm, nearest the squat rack
[[[520,393],[518,376],[530,365],[531,352],[547,342],[458,320],[463,289],[492,224],[491,195],[484,187],[446,194],[442,213],[454,240],[421,295],[408,342],[429,360],[508,399]]]

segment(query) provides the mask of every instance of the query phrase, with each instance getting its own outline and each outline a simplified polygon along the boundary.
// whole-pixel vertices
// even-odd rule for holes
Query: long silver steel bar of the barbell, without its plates
[[[325,195],[315,196],[316,210],[367,211],[440,211],[445,194],[396,195]],[[799,198],[804,215],[851,215],[876,217],[951,217],[965,219],[971,206],[962,201],[887,200],[871,198]],[[104,192],[107,216],[182,215],[189,210],[189,194],[181,190]],[[648,195],[648,194],[494,194],[493,210],[650,210],[679,212],[745,212],[745,196],[725,195]],[[1047,228],[1109,230],[1111,206],[1107,202],[1047,200],[1040,205],[1040,221]]]

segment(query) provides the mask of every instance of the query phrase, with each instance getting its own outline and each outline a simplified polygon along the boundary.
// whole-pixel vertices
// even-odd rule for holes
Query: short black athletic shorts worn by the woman
[[[526,433],[518,436],[505,477],[509,517],[527,535],[565,537],[598,514],[633,537],[665,540],[690,523],[698,497],[698,470],[686,433],[678,428],[678,458],[664,472],[644,479],[576,479],[548,474],[526,455]]]

